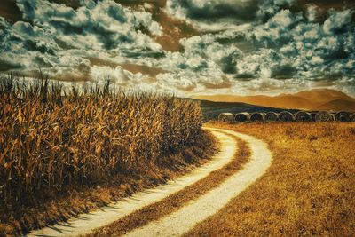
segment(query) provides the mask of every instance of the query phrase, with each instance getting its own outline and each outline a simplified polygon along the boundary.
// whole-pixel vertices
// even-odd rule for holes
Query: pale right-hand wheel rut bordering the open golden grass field
[[[197,223],[217,213],[235,196],[260,178],[272,162],[272,153],[267,145],[256,138],[232,130],[220,130],[248,142],[251,157],[242,170],[227,178],[224,183],[197,200],[187,203],[183,208],[169,216],[151,222],[126,233],[125,236],[180,236],[193,229]]]

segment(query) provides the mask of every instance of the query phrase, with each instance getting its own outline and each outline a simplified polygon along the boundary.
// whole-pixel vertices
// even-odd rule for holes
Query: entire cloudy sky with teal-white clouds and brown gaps
[[[2,0],[0,73],[180,96],[355,95],[353,1]]]

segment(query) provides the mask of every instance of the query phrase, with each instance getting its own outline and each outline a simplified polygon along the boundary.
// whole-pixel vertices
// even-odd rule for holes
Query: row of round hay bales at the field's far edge
[[[218,116],[218,120],[223,122],[355,122],[355,113],[331,113],[327,111],[299,111],[296,114],[292,114],[288,111],[282,111],[280,113],[243,112],[235,115],[233,115],[232,113],[222,113]]]

